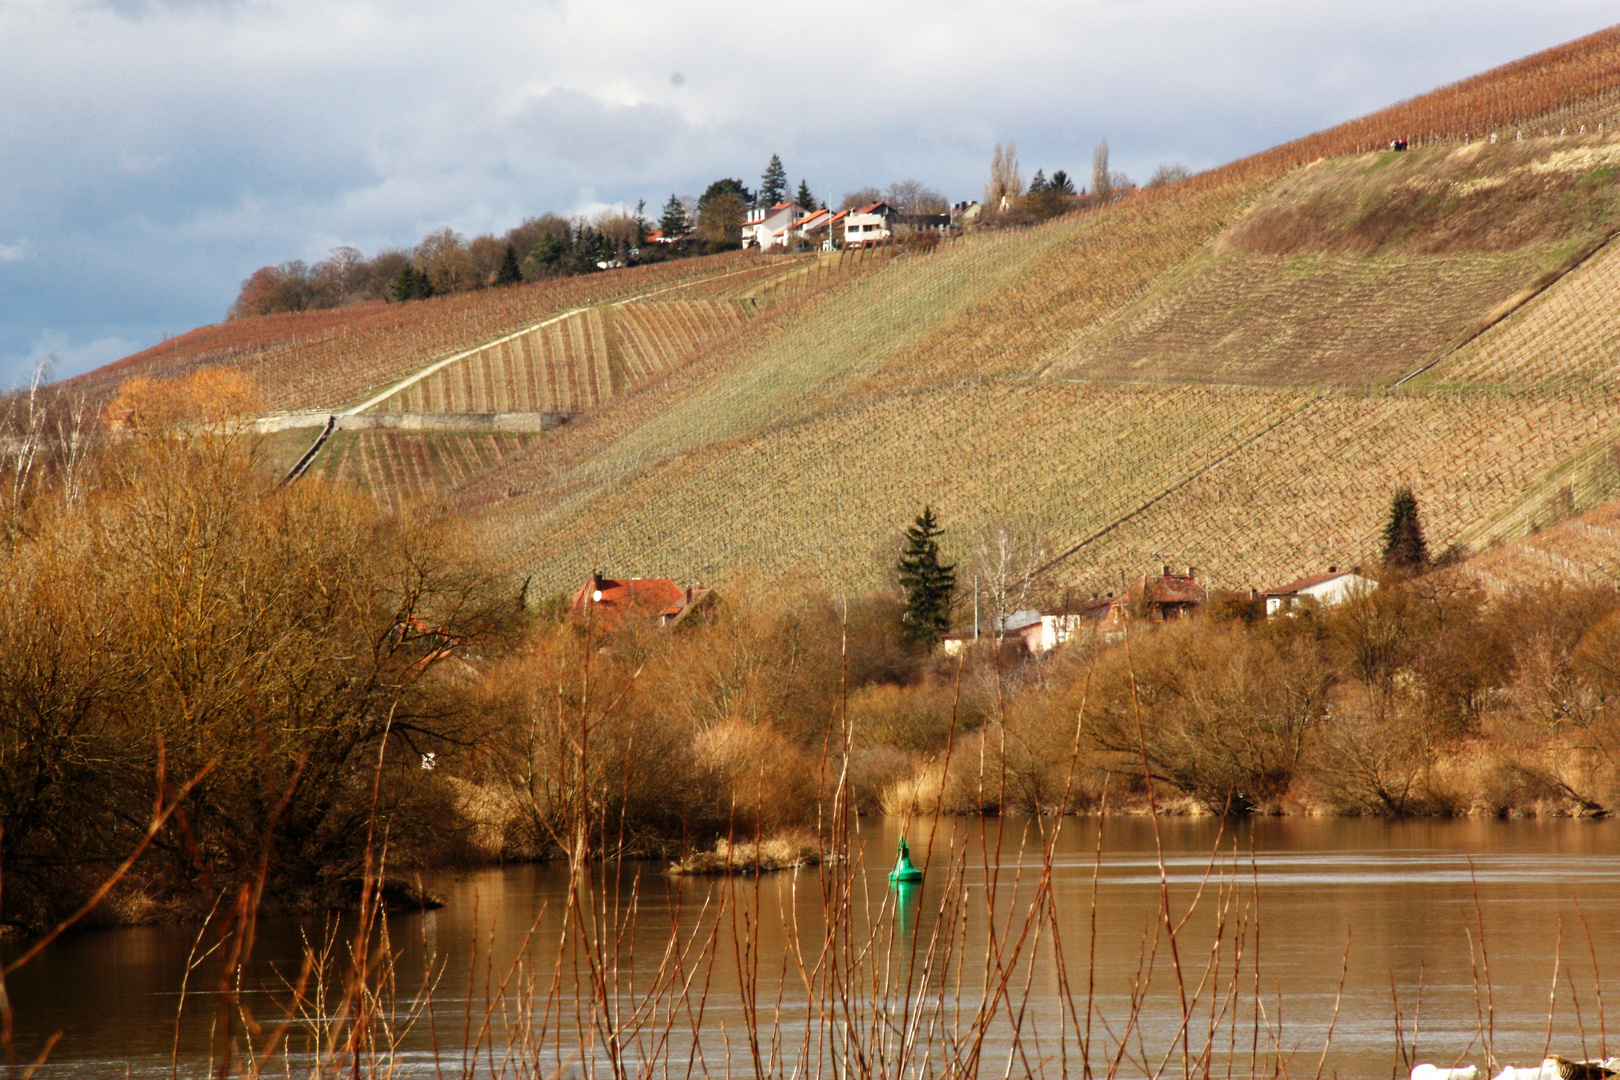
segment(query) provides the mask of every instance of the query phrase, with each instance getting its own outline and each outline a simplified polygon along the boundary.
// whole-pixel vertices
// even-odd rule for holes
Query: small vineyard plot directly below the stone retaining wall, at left
[[[394,512],[441,495],[539,439],[522,432],[339,431],[311,473],[358,484]]]

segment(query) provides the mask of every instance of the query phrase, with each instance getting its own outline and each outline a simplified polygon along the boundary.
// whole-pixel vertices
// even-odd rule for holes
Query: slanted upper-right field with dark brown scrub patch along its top
[[[1432,363],[1620,227],[1614,136],[1290,173],[1053,374],[1364,385]]]

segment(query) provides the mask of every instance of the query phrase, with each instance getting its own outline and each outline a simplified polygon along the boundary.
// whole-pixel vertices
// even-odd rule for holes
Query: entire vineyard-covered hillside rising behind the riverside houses
[[[245,321],[84,382],[227,363],[272,411],[460,418],[311,471],[447,494],[543,588],[865,588],[923,504],[959,557],[1040,533],[1055,585],[1265,586],[1366,559],[1403,483],[1484,551],[1620,492],[1617,118],[1605,31],[1035,228]]]

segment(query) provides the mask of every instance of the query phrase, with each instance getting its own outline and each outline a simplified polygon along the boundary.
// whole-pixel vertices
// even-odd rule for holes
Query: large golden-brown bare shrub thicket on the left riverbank
[[[233,421],[253,397],[219,374],[126,387],[87,494],[37,500],[13,544],[6,921],[76,905],[188,782],[123,881],[126,918],[185,913],[254,878],[271,905],[330,902],[358,881],[376,811],[402,871],[462,847],[418,763],[465,738],[450,646],[489,638],[510,601],[444,521],[381,521],[356,495],[279,487]]]

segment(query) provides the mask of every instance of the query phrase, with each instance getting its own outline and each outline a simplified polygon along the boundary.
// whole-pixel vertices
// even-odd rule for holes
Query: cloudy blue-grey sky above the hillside
[[[254,269],[779,154],[917,178],[1218,165],[1620,23],[1620,0],[0,0],[0,385],[225,317]]]

